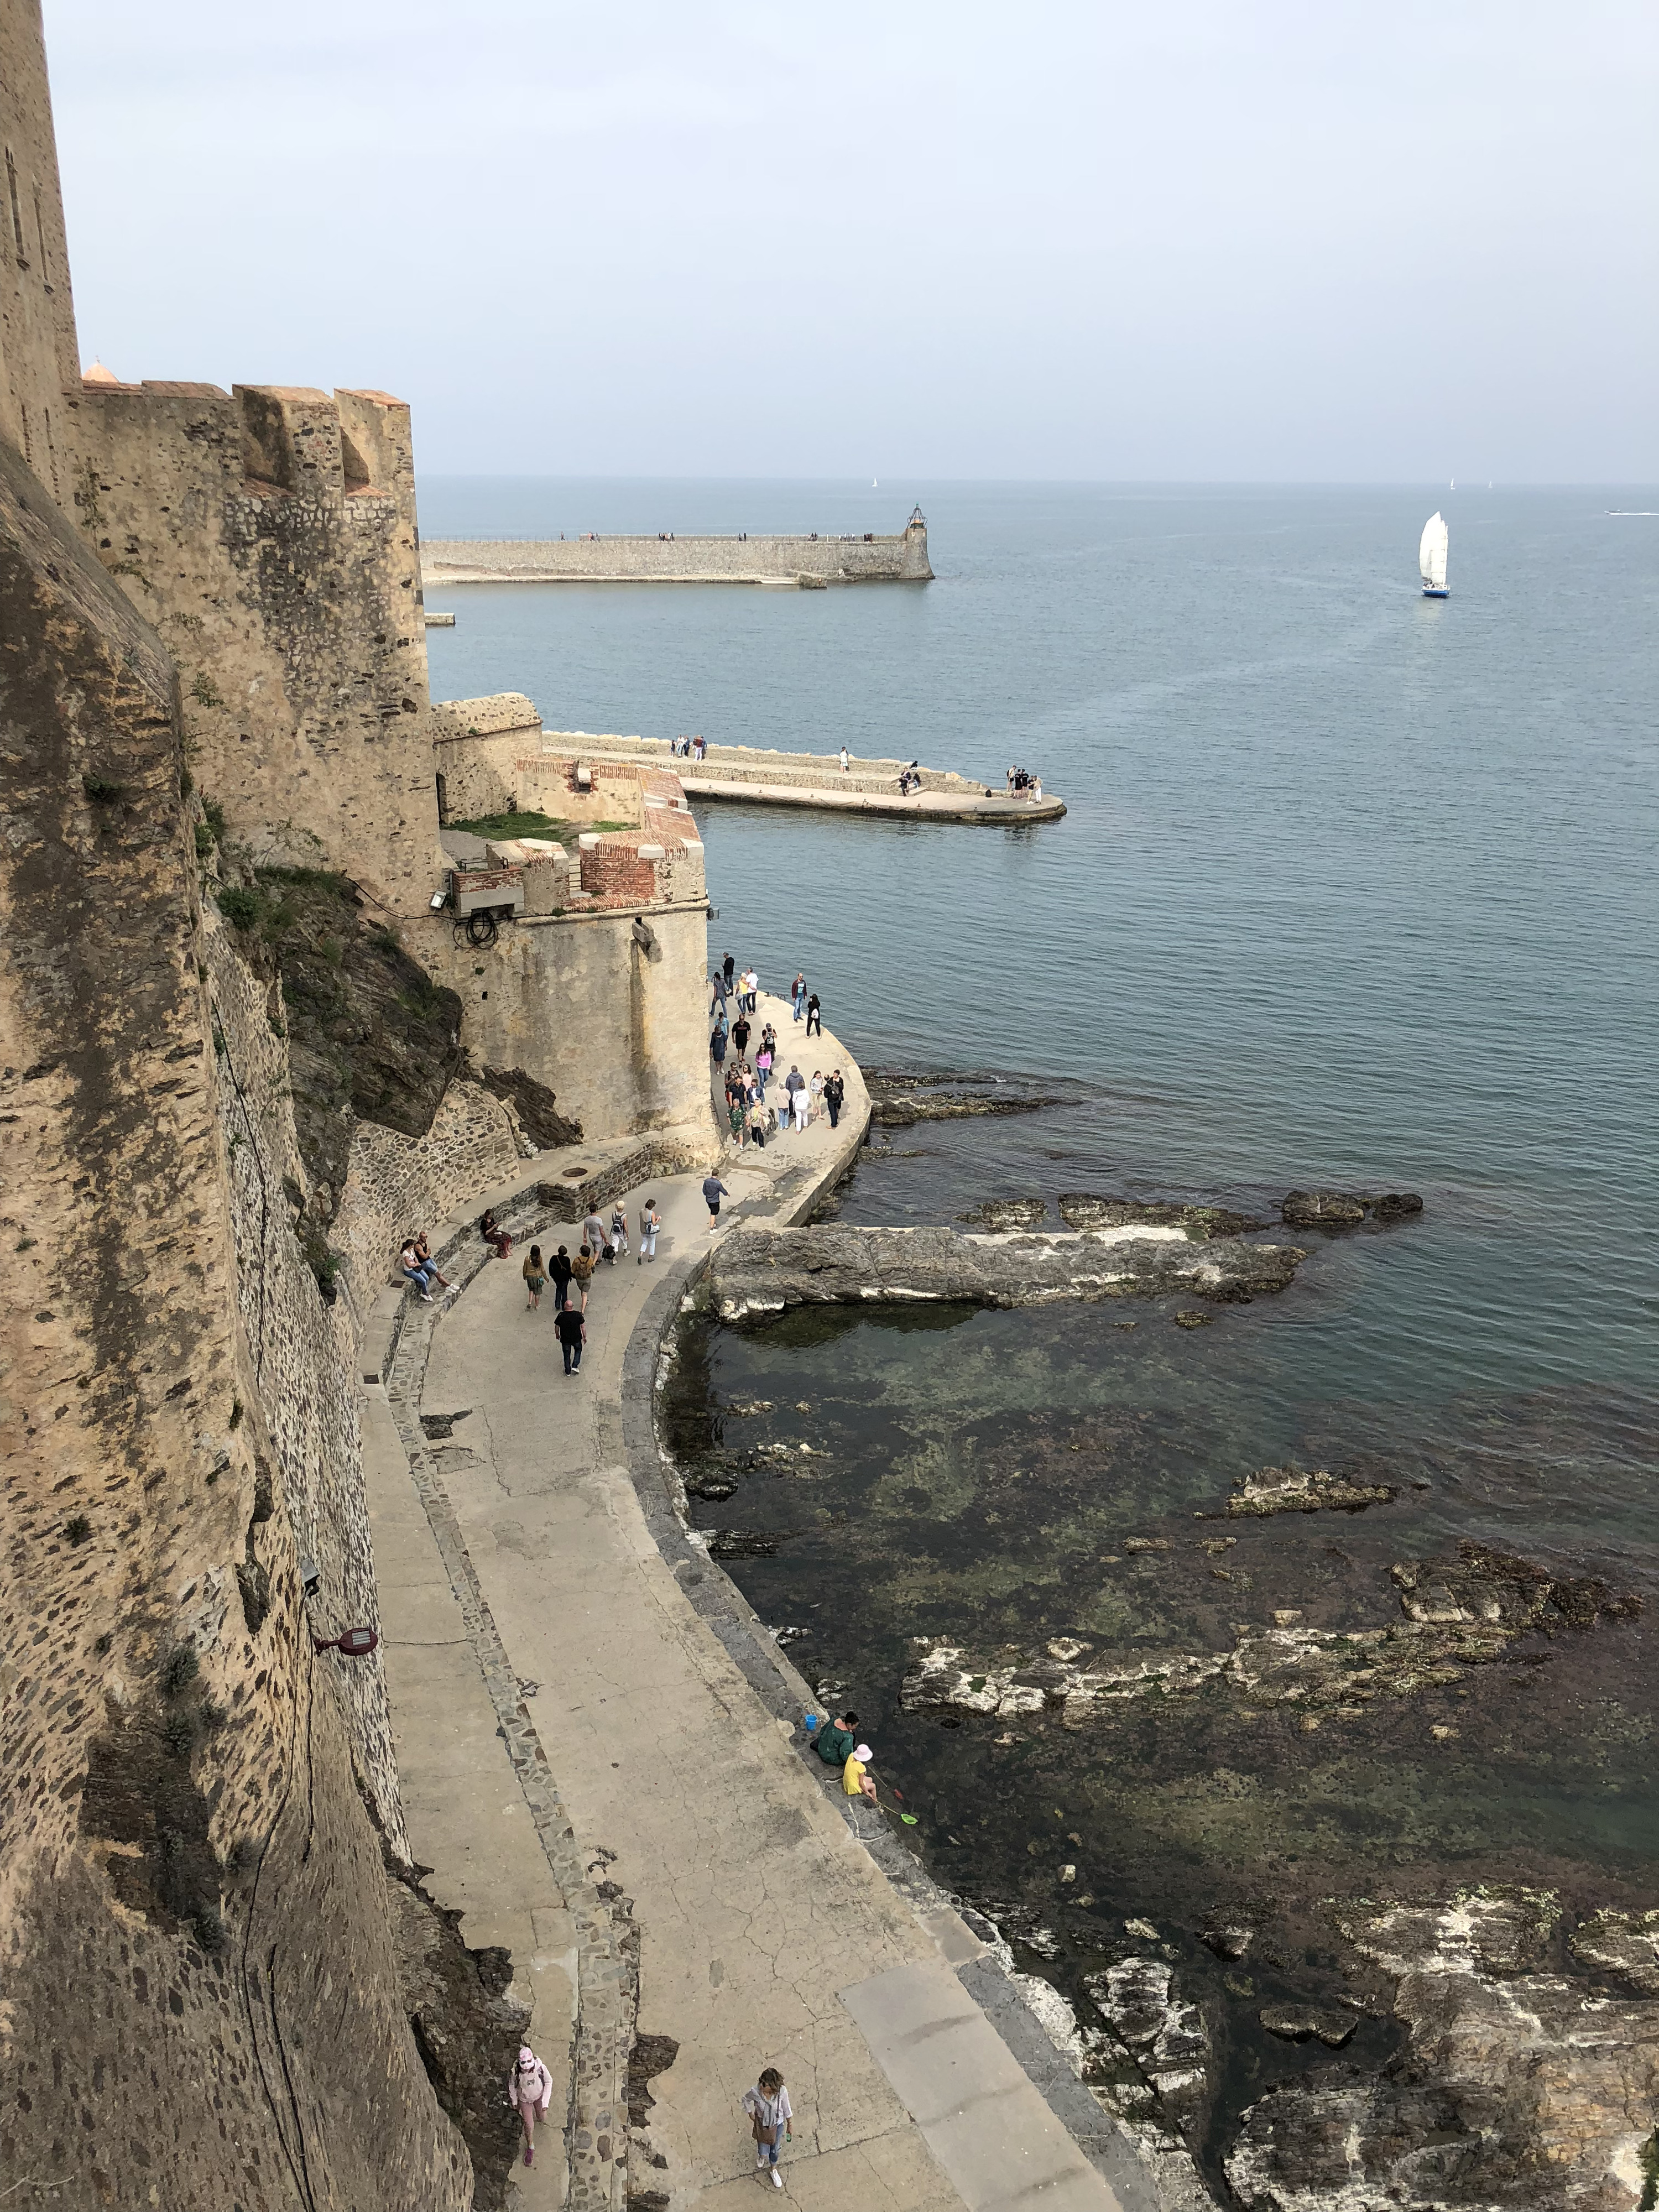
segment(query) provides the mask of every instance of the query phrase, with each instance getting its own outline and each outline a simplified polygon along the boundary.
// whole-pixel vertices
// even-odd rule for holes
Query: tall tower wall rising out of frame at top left
[[[80,385],[40,0],[0,7],[0,438],[69,495],[64,389]]]

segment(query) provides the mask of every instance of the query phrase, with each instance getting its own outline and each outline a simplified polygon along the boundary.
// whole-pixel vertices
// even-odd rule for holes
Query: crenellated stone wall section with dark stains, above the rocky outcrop
[[[82,385],[66,416],[73,513],[179,661],[234,838],[420,911],[442,860],[409,409],[146,383]]]

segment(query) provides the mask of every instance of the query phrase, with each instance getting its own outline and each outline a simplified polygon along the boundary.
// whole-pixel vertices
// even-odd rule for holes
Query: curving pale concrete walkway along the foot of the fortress
[[[787,1006],[763,1002],[763,1011],[787,1066]],[[823,1053],[825,1066],[838,1060],[852,1073],[834,1037],[825,1035]],[[750,1155],[723,1170],[732,1203],[750,1219],[794,1219],[834,1177],[865,1121],[863,1082],[854,1082],[834,1139],[823,1124],[770,1144],[754,1166]],[[783,2068],[796,2110],[783,2166],[796,2205],[1113,2212],[1150,2203],[1135,2188],[1115,2190],[1084,2157],[969,1993],[991,1964],[984,1947],[938,1898],[920,1909],[894,1887],[816,1765],[801,1759],[799,1723],[768,1710],[754,1677],[745,1679],[741,1637],[719,1628],[697,1588],[706,1577],[723,1582],[719,1571],[684,1537],[670,1564],[653,1533],[655,1509],[641,1504],[622,1449],[624,1354],[648,1296],[661,1285],[655,1310],[672,1303],[677,1281],[712,1241],[699,1177],[657,1181],[653,1194],[666,1221],[657,1267],[624,1259],[599,1272],[577,1376],[562,1371],[551,1301],[524,1310],[518,1254],[482,1265],[436,1332],[420,1310],[429,1334],[420,1411],[469,1409],[442,1444],[438,1473],[442,1526],[453,1526],[465,1566],[447,1559],[434,1575],[418,1531],[431,1498],[411,1502],[407,1462],[398,1495],[398,1453],[383,1449],[389,1422],[369,1418],[376,1544],[387,1542],[392,1566],[387,1677],[414,1851],[422,1860],[431,1843],[445,1851],[447,1902],[465,1896],[469,1942],[487,1940],[487,1929],[489,1940],[513,1940],[507,1929],[515,1929],[522,1942],[529,1929],[529,1949],[515,1958],[540,1984],[535,2035],[542,2017],[568,2017],[573,1929],[562,1891],[588,1880],[619,1911],[630,1907],[639,2033],[679,2046],[650,2084],[646,2126],[626,2146],[635,2203],[681,2212],[752,2201],[739,2099],[765,2064]],[[630,1194],[630,1214],[641,1197]],[[403,1418],[400,1431],[407,1447]],[[420,1484],[431,1491],[431,1469]],[[467,1604],[462,1586],[476,1593]],[[745,1613],[734,1593],[732,1604]],[[487,1615],[500,1650],[493,1701],[465,1681],[456,1608],[469,1632],[480,1608]],[[533,1865],[522,1840],[533,1820],[511,1809],[507,1776],[533,1770],[511,1747],[511,1728],[509,1743],[498,1741],[500,1679],[533,1694],[518,1710],[533,1717],[557,1798],[553,1825],[540,1820],[538,1832],[568,1838],[577,1867],[564,1882]],[[538,1807],[529,1809],[535,1818]],[[1077,2095],[1097,2121],[1086,2093]],[[606,2108],[599,2121],[622,2174],[624,2115]],[[573,2146],[586,2159],[573,2203],[604,2201],[591,2132],[577,2130]],[[542,2161],[524,2179],[540,2192]],[[535,2201],[557,2199],[515,2197]]]

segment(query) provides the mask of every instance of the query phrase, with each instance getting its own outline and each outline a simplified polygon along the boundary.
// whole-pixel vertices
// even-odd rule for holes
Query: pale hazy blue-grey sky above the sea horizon
[[[1652,0],[46,0],[82,349],[427,471],[1659,478]]]

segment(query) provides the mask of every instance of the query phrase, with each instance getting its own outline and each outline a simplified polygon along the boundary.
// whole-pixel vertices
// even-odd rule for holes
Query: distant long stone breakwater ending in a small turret
[[[927,584],[927,522],[896,538],[434,538],[427,584]]]

